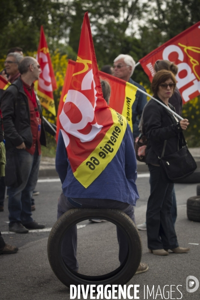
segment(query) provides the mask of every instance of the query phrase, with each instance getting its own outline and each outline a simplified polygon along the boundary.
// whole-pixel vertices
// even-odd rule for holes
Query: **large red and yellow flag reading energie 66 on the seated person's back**
[[[87,12],[59,125],[73,175],[87,188],[116,154],[127,125],[103,99]]]

